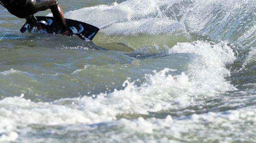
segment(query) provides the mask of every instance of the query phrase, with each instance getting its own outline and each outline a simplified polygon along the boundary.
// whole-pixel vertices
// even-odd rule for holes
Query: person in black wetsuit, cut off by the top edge
[[[25,18],[26,22],[37,31],[41,30],[41,25],[37,22],[34,14],[38,11],[51,9],[52,15],[61,28],[62,35],[69,35],[67,24],[60,4],[57,0],[0,0],[0,4],[12,15],[18,18]]]

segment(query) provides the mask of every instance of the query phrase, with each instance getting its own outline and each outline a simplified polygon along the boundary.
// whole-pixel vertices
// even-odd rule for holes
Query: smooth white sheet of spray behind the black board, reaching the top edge
[[[159,34],[180,29],[177,21],[162,14],[160,5],[164,3],[158,0],[127,0],[69,11],[64,16],[99,27],[104,34]]]

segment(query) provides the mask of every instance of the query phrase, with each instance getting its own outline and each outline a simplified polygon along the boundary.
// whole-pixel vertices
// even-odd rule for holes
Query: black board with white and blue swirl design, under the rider
[[[36,16],[36,19],[38,20],[38,23],[41,25],[42,30],[44,32],[49,34],[60,33],[60,28],[58,26],[58,23],[53,17]],[[71,20],[67,18],[65,18],[65,21],[67,23],[67,26],[70,28],[69,31],[73,32],[71,33],[71,36],[75,34],[83,40],[86,40],[86,39],[92,40],[93,37],[99,31],[99,28],[81,21]],[[29,31],[29,33],[32,31],[32,28],[30,28],[27,22],[25,22],[24,25],[20,28],[20,32],[24,33],[26,31]]]

